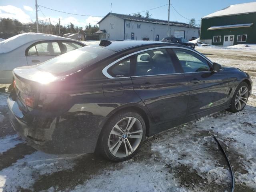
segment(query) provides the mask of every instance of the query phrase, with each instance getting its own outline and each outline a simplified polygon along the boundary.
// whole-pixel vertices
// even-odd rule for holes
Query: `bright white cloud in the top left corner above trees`
[[[20,8],[12,6],[12,5],[0,6],[0,17],[17,19],[22,23],[31,22],[29,15],[27,15]]]

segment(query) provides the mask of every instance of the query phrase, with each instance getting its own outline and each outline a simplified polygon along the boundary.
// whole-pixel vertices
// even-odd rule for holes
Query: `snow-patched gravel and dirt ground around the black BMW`
[[[248,72],[254,81],[246,108],[222,111],[147,138],[131,160],[113,163],[95,154],[57,156],[27,146],[8,122],[7,93],[0,92],[0,192],[256,191],[256,52],[197,48],[213,62]],[[6,85],[0,85],[4,87]]]

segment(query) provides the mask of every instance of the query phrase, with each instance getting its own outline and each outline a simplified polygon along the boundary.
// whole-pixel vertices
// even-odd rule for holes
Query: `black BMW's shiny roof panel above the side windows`
[[[128,50],[131,48],[136,48],[136,47],[146,47],[146,46],[180,46],[180,47],[185,47],[182,45],[178,44],[172,44],[172,43],[166,43],[166,42],[160,42],[160,41],[143,41],[143,40],[120,40],[120,41],[109,41],[109,43],[106,46],[100,46],[100,44],[93,44],[90,45],[91,47],[96,47],[96,48],[104,48],[108,50],[112,50],[115,52],[121,52],[123,50]],[[186,46],[187,48],[187,46]]]

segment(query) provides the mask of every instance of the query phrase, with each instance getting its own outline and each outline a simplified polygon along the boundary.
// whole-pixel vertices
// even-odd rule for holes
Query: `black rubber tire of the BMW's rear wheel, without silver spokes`
[[[130,128],[130,130],[136,129],[137,126],[140,128],[139,130],[142,131],[142,132],[139,131],[140,133],[138,133],[141,136],[140,142],[139,142],[138,138],[129,138],[128,137],[129,132],[127,132],[127,135],[126,135],[127,138],[123,138],[123,136],[126,134],[125,131],[121,137],[111,134],[112,130],[115,129],[114,126],[116,126],[116,124],[126,122],[126,125],[124,125],[123,127],[122,127],[122,125],[120,126],[120,124],[118,125],[118,128],[122,128],[122,130],[125,130],[125,129],[127,129],[127,127],[129,127],[129,126],[127,126],[127,124],[129,124],[128,120],[130,120],[130,124],[131,124],[131,122],[133,122],[134,119],[136,119],[136,120],[135,120],[133,126],[131,126],[132,128]],[[119,130],[116,130],[116,131],[118,133],[120,133]],[[130,131],[130,132],[132,132],[132,131]],[[139,148],[141,147],[141,145],[145,139],[145,134],[146,134],[146,124],[145,124],[142,116],[140,116],[140,114],[138,114],[135,111],[118,112],[103,127],[103,130],[102,130],[99,140],[98,140],[97,152],[99,152],[104,158],[107,158],[108,160],[112,160],[115,162],[121,162],[124,160],[128,160],[129,158],[134,156],[134,154],[136,154],[136,152],[138,152]],[[121,142],[120,140],[122,140],[122,143],[119,145],[118,152],[119,151],[120,151],[120,153],[123,152],[125,156],[121,156],[122,154],[120,156],[118,156],[117,155],[118,152],[116,152],[116,154],[113,155],[112,152],[114,151],[115,148],[113,148],[112,152],[110,152],[110,149],[113,147],[113,146],[110,147],[111,138],[113,138],[113,140],[116,139],[116,142],[115,141],[113,142],[113,146],[114,146],[114,143],[119,144],[119,142]],[[138,140],[138,141],[134,142],[136,144],[136,148],[135,148],[134,152],[131,152],[132,150],[130,150],[130,148],[128,148],[127,140],[128,140],[129,146],[131,146],[131,147],[132,147],[132,143],[134,141]],[[118,146],[118,144],[116,146]],[[128,153],[129,155],[127,156],[127,153],[126,153],[127,150],[124,151],[125,149],[128,149],[128,151],[130,150],[129,153],[131,153],[131,154]]]

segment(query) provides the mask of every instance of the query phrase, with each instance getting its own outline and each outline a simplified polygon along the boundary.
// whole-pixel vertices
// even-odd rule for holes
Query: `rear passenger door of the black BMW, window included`
[[[135,55],[134,91],[152,114],[156,124],[186,116],[189,89],[183,74],[166,48],[151,48]]]

